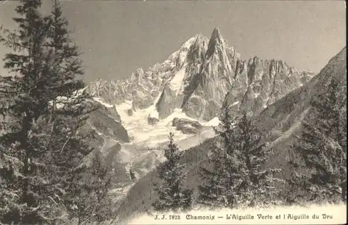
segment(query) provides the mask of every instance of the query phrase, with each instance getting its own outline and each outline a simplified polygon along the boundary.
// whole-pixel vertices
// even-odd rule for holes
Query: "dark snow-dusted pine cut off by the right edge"
[[[288,181],[292,187],[288,201],[347,199],[347,97],[342,87],[340,80],[332,78],[325,91],[310,102],[293,148],[301,160],[290,160],[296,172]]]

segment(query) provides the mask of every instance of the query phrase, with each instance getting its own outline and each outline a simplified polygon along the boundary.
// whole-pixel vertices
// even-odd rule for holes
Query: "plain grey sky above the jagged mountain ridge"
[[[16,1],[0,3],[15,28]],[[44,0],[42,11],[51,2]],[[85,79],[117,80],[161,63],[197,33],[218,26],[242,58],[284,60],[319,72],[346,43],[345,1],[61,1],[84,60]],[[8,52],[0,46],[0,58]],[[0,74],[6,74],[0,62]]]

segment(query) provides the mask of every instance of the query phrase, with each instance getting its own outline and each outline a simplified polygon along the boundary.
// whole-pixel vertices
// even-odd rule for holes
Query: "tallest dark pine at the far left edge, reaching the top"
[[[14,18],[19,29],[14,33],[4,31],[0,40],[14,53],[6,54],[5,68],[16,76],[6,77],[1,87],[1,113],[10,117],[2,124],[6,133],[1,135],[1,221],[19,223],[38,223],[38,205],[32,191],[34,170],[40,164],[33,158],[37,153],[32,145],[31,124],[38,119],[40,101],[35,91],[38,74],[43,74],[47,38],[47,18],[38,12],[40,1],[21,1],[16,12],[22,17]],[[17,75],[19,74],[19,75]]]

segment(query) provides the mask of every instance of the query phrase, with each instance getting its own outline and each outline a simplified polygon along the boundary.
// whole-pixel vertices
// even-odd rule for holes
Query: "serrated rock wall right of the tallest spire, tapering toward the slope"
[[[258,115],[313,77],[312,73],[299,72],[282,60],[258,57],[238,63],[236,71],[235,82],[223,101],[223,108],[229,108],[234,115],[242,110],[250,116]]]

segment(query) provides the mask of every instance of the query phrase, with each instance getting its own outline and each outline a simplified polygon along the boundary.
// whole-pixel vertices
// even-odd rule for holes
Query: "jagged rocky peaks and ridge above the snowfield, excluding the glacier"
[[[193,119],[209,121],[223,108],[258,115],[313,76],[282,60],[243,60],[214,28],[210,39],[201,34],[190,38],[164,63],[120,81],[92,82],[89,90],[106,103],[132,101],[132,110],[155,106],[159,120],[178,108]]]

